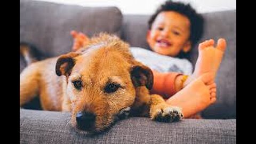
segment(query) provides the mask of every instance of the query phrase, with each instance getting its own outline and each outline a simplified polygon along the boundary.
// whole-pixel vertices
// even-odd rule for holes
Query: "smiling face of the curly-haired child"
[[[147,42],[153,51],[175,57],[181,50],[190,50],[189,36],[189,19],[174,11],[164,11],[157,15],[148,31]]]

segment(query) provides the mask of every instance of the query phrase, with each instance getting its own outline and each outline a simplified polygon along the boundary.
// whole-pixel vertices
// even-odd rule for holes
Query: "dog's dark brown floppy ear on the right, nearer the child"
[[[153,87],[153,72],[150,68],[139,64],[131,68],[131,79],[135,87],[146,86],[147,89],[152,89]]]

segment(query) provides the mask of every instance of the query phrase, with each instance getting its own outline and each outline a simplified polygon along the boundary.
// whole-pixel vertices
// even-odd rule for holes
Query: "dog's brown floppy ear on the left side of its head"
[[[71,74],[72,68],[75,66],[75,57],[79,55],[75,52],[60,55],[56,62],[55,71],[58,76]]]

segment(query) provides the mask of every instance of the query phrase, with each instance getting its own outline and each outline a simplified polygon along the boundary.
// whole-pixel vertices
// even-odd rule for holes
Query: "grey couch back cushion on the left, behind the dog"
[[[101,31],[120,35],[121,25],[122,13],[117,7],[20,1],[20,41],[33,43],[47,57],[70,52],[70,30],[89,36]]]

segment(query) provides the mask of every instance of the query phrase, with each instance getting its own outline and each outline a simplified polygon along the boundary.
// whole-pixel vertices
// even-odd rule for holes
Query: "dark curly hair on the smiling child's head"
[[[185,15],[190,21],[190,37],[192,46],[194,46],[203,35],[204,19],[201,14],[196,13],[190,4],[184,4],[181,2],[166,1],[164,4],[158,7],[156,12],[150,17],[148,21],[148,29],[151,29],[152,23],[155,21],[157,15],[163,11],[175,11],[182,15]]]

